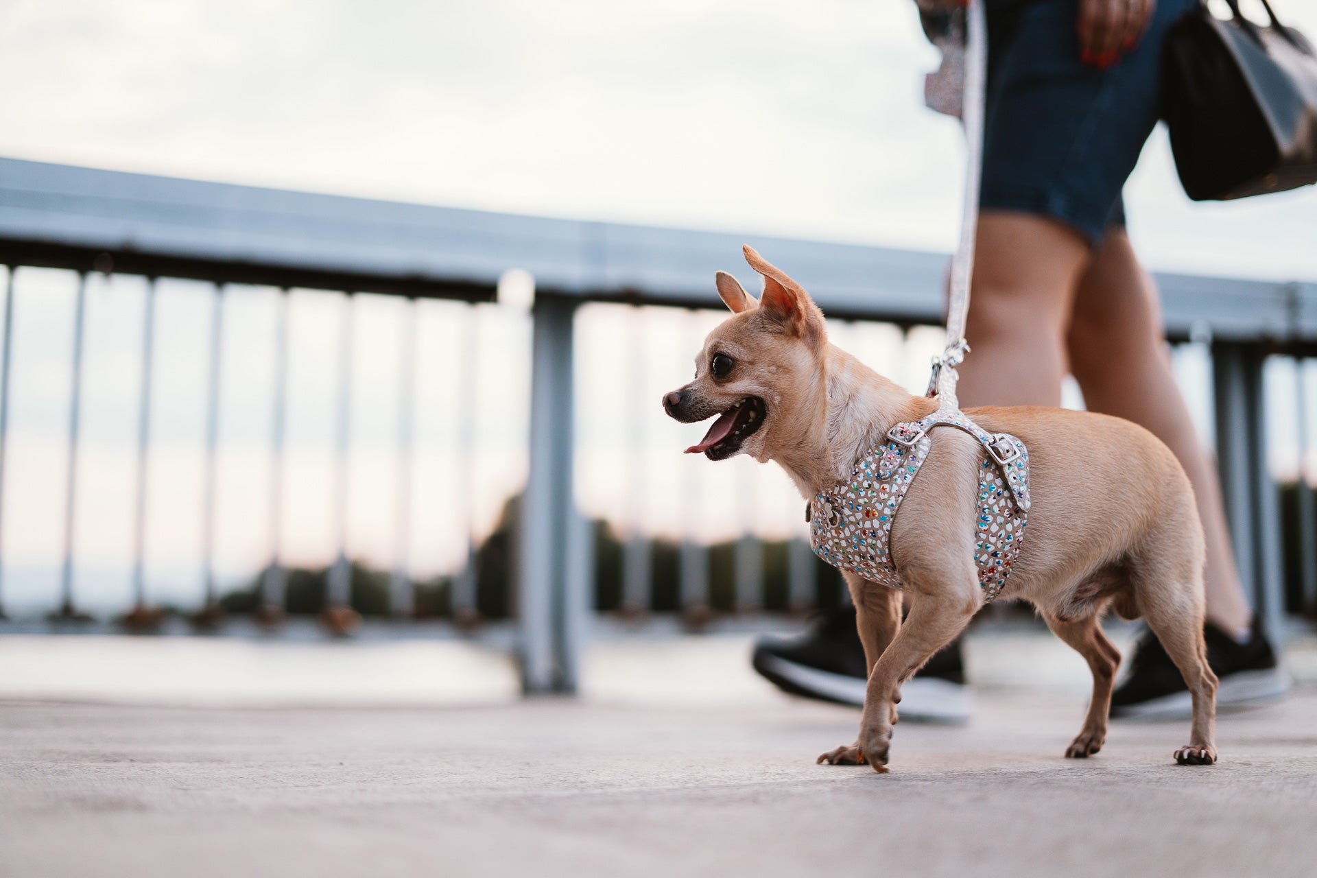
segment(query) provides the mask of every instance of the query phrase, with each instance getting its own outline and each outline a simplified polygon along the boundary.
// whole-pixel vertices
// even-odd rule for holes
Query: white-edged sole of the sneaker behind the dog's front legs
[[[755,670],[793,695],[864,706],[867,682],[861,677],[823,671],[768,653],[755,656]],[[902,720],[914,723],[967,723],[973,712],[973,694],[960,683],[915,677],[901,687],[898,712]]]

